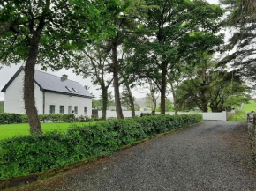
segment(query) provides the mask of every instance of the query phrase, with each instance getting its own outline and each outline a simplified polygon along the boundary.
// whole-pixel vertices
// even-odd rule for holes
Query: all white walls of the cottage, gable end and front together
[[[24,71],[19,73],[7,88],[4,94],[4,112],[14,114],[26,114],[23,100]],[[43,114],[43,92],[35,84],[35,106],[38,114]],[[68,114],[68,106],[78,106],[78,115],[84,115],[84,107],[87,107],[87,116],[92,115],[92,99],[69,96],[59,93],[45,92],[45,114],[49,114],[49,105],[55,105],[56,114],[59,114],[59,106],[64,106],[64,114]]]

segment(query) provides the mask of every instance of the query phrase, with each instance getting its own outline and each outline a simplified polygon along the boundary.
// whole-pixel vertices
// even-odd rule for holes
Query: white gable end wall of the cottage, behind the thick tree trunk
[[[24,71],[21,71],[19,76],[13,80],[4,94],[5,113],[26,114],[23,100],[23,84]],[[35,106],[39,114],[42,114],[42,92],[37,84],[35,84],[34,91]]]

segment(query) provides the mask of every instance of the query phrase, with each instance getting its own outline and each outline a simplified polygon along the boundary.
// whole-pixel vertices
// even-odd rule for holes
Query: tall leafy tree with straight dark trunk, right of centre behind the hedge
[[[214,51],[222,42],[218,32],[222,9],[205,1],[147,0],[147,36],[134,42],[134,71],[150,78],[161,92],[161,114],[165,114],[165,97],[169,70],[179,62],[193,60],[203,49]]]

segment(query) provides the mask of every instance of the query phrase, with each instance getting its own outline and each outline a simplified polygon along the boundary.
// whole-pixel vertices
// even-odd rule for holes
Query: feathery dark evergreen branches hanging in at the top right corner
[[[226,26],[233,35],[225,48],[220,65],[229,65],[241,76],[256,79],[256,6],[254,0],[221,0],[230,13]],[[229,52],[231,54],[229,54]]]

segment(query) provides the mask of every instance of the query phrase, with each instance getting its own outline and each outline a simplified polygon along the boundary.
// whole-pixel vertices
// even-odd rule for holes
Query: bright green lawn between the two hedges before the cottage
[[[78,123],[41,123],[41,128],[43,132],[48,132],[51,130],[61,130],[63,132],[72,126],[88,126],[90,124],[95,124],[96,122],[78,122]],[[29,135],[29,125],[24,124],[7,124],[0,125],[0,140],[5,138],[11,138],[13,136],[27,136]]]

